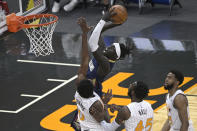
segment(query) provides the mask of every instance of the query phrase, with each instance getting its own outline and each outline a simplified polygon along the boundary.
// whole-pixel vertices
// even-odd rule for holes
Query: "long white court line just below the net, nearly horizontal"
[[[35,64],[47,64],[47,65],[61,65],[61,66],[76,66],[79,67],[80,64],[69,64],[69,63],[57,63],[57,62],[46,62],[46,61],[32,61],[32,60],[17,60],[21,63],[35,63]]]

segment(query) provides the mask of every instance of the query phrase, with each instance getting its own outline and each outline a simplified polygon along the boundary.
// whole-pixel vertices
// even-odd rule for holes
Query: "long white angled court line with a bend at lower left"
[[[9,111],[9,110],[0,110],[0,112],[4,112],[4,113],[19,113],[20,111],[28,108],[29,106],[33,105],[34,103],[36,103],[37,101],[43,99],[44,97],[46,97],[47,95],[55,92],[56,90],[60,89],[61,87],[65,86],[66,84],[68,84],[69,82],[73,81],[74,79],[77,78],[77,75],[73,76],[72,78],[70,78],[69,80],[63,82],[62,84],[58,85],[57,87],[53,88],[52,90],[46,92],[45,94],[37,97],[35,100],[31,101],[30,103],[24,105],[23,107],[19,108],[16,111]]]

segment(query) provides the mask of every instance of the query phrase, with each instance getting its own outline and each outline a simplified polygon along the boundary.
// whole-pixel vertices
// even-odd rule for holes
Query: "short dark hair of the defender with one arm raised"
[[[77,86],[77,92],[83,98],[89,98],[93,95],[94,86],[88,79],[81,80]]]

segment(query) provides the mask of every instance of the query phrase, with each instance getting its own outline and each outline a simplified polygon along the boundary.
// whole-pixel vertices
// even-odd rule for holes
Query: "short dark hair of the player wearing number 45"
[[[146,83],[137,81],[136,85],[134,85],[134,92],[137,99],[143,100],[148,96],[149,88]]]

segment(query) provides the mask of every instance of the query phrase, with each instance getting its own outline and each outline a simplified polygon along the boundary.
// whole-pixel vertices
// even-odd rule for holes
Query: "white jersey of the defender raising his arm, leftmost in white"
[[[82,131],[104,131],[100,123],[98,123],[94,117],[89,113],[89,108],[97,100],[101,101],[101,98],[94,92],[94,97],[83,98],[76,91],[75,100],[77,103],[78,109],[78,120],[81,126]],[[102,101],[101,101],[102,103]]]

